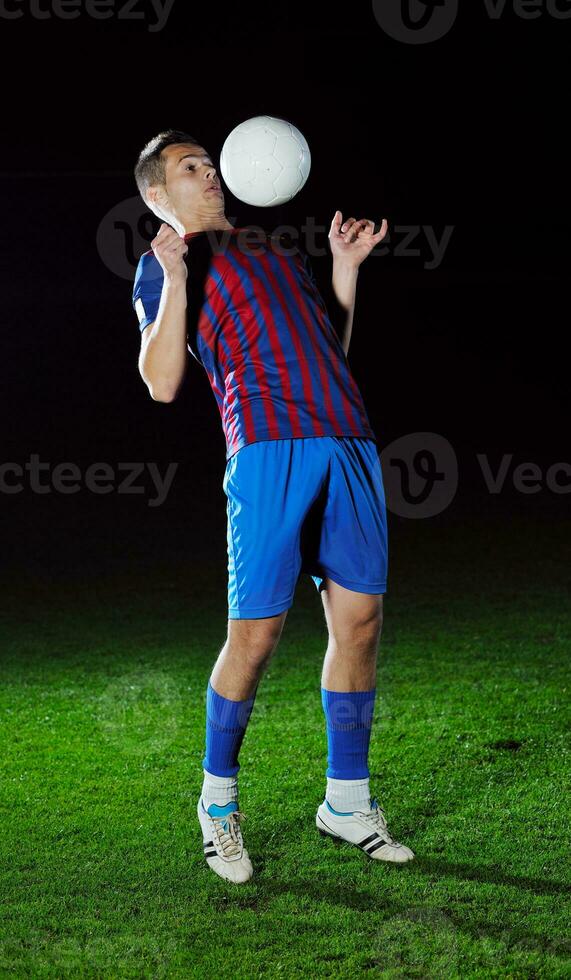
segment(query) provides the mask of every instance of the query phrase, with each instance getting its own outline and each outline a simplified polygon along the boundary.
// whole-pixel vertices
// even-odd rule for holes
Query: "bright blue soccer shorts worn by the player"
[[[277,616],[300,572],[355,592],[386,592],[387,519],[373,439],[310,436],[248,443],[226,463],[228,618]]]

